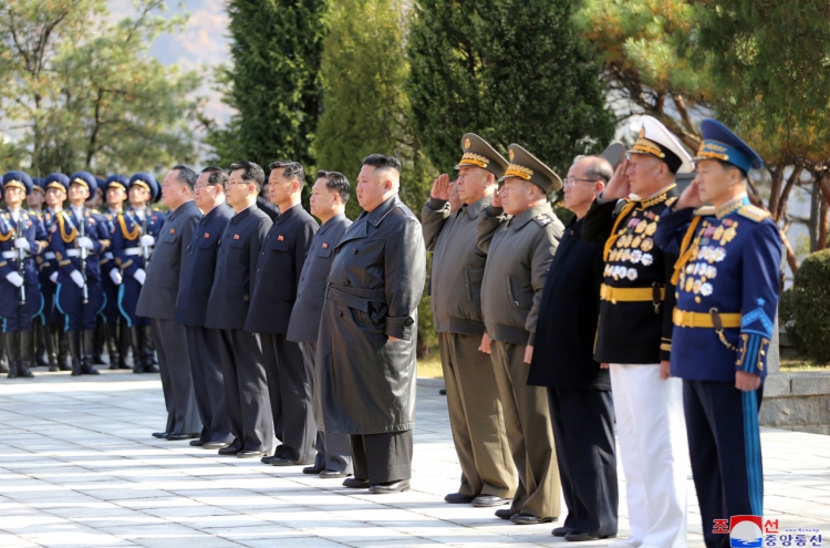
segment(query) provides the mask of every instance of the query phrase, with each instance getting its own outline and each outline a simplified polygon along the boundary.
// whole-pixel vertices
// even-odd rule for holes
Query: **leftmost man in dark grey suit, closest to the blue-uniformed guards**
[[[162,226],[135,307],[136,316],[152,321],[167,405],[167,427],[153,435],[170,441],[198,437],[201,431],[185,328],[175,322],[176,298],[185,273],[181,265],[187,260],[187,244],[194,228],[201,219],[193,201],[195,184],[196,173],[186,166],[175,166],[164,178],[162,200],[172,213]]]

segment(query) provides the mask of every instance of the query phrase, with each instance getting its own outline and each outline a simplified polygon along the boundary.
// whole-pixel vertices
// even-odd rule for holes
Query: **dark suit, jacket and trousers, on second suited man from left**
[[[176,323],[185,327],[187,335],[194,394],[201,418],[199,441],[203,444],[230,444],[234,441],[219,363],[220,333],[205,327],[219,236],[232,216],[234,209],[220,204],[196,225],[187,246],[185,276],[176,301]]]

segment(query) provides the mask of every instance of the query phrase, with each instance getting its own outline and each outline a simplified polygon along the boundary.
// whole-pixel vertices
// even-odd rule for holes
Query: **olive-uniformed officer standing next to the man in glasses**
[[[519,473],[510,509],[497,510],[515,524],[543,524],[559,517],[560,482],[548,394],[528,386],[536,323],[544,278],[564,232],[547,194],[562,188],[553,170],[517,144],[499,179],[505,186],[478,216],[477,242],[487,254],[481,313],[507,440]],[[491,342],[490,342],[491,341]]]

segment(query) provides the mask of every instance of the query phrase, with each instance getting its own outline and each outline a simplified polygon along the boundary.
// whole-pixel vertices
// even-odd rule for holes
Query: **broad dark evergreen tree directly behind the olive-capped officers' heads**
[[[475,132],[527,146],[559,173],[613,136],[600,66],[571,0],[418,0],[408,37],[413,127],[442,170]]]

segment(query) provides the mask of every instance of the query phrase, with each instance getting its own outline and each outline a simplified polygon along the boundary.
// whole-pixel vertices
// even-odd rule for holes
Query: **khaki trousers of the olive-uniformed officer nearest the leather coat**
[[[516,493],[516,468],[507,442],[490,356],[480,337],[438,333],[440,363],[455,451],[461,465],[458,493],[469,497]]]

